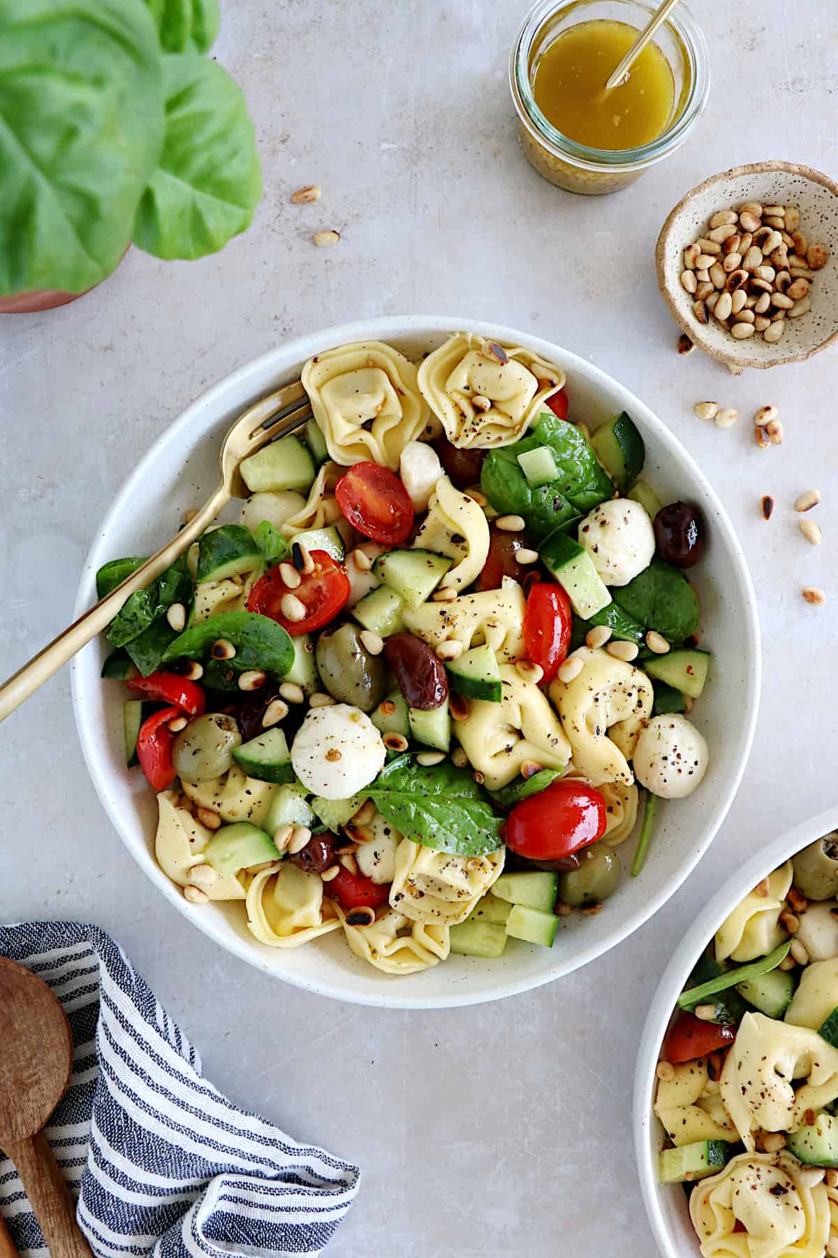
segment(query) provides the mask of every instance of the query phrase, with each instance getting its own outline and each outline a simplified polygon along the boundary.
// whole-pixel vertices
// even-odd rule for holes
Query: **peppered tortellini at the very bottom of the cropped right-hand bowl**
[[[824,1184],[808,1186],[802,1171],[789,1154],[739,1154],[700,1180],[690,1216],[704,1258],[823,1258],[829,1198]]]

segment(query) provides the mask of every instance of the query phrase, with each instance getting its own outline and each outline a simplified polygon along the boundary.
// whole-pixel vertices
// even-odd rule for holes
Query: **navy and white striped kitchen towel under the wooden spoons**
[[[0,926],[0,955],[53,989],[73,1029],[70,1087],[46,1128],[99,1258],[319,1254],[358,1169],[231,1105],[122,950],[97,926]],[[0,1211],[45,1255],[14,1166]]]

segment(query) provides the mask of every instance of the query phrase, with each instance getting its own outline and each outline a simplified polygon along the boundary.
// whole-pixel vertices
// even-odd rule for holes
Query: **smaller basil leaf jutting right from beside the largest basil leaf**
[[[166,137],[134,223],[157,258],[202,258],[250,225],[261,170],[241,89],[224,67],[190,53],[163,62]]]

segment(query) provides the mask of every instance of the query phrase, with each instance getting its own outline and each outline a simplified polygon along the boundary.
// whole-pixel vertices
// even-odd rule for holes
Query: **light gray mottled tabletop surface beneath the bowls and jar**
[[[67,676],[0,730],[0,918],[111,930],[202,1050],[207,1074],[364,1180],[329,1249],[400,1258],[653,1253],[629,1140],[648,993],[686,921],[760,844],[834,803],[838,356],[735,380],[680,359],[652,252],[700,179],[783,157],[835,175],[829,0],[696,5],[715,86],[695,137],[614,198],[543,182],[505,84],[524,5],[501,0],[227,0],[217,54],[244,83],[265,200],[220,257],[132,250],[74,306],[0,322],[0,642],[9,669],[67,623],[116,487],[180,409],[295,332],[362,314],[494,318],[587,355],[639,394],[710,472],[760,600],[764,694],[737,803],[688,883],[618,951],[552,988],[464,1011],[340,1006],[268,982],[153,893],[111,829],[75,741]],[[293,206],[302,184],[323,185]],[[335,249],[310,233],[337,226]],[[808,226],[808,224],[805,225]],[[815,233],[817,234],[817,233]],[[737,406],[737,426],[692,403]],[[781,448],[749,418],[775,403]],[[792,502],[819,486],[810,547]],[[776,502],[764,523],[760,496]],[[803,584],[827,587],[807,606]]]

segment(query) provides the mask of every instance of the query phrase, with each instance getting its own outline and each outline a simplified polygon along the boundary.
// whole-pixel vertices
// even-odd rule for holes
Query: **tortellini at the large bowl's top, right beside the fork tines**
[[[318,353],[300,379],[329,455],[343,467],[371,459],[397,472],[402,450],[427,424],[416,367],[382,341]]]

